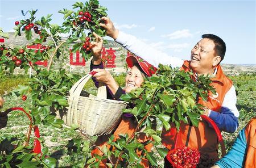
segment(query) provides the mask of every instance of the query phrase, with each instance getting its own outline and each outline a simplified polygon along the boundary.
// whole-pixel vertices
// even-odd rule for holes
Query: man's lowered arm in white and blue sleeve
[[[237,96],[234,86],[226,93],[222,103],[221,111],[210,110],[209,117],[222,131],[233,133],[238,127],[239,112],[236,107]]]

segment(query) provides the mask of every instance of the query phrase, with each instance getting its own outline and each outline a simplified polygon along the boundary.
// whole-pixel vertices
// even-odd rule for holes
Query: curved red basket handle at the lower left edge
[[[26,116],[28,117],[28,119],[30,120],[30,125],[28,127],[28,131],[27,131],[27,140],[26,140],[26,144],[25,146],[28,146],[28,142],[30,141],[30,135],[31,135],[31,129],[32,129],[32,117],[30,116],[30,112],[27,113],[24,108],[22,107],[13,107],[13,108],[9,108],[7,109],[5,112],[3,112],[5,115],[9,114],[9,112],[11,111],[15,111],[15,110],[20,110],[22,112],[24,112],[24,114],[26,114]],[[39,133],[39,128],[38,125],[34,125],[34,133],[35,133],[35,137],[40,138],[40,133]],[[34,148],[33,148],[33,152],[34,153],[41,153],[41,144],[40,141],[35,138],[34,140]]]

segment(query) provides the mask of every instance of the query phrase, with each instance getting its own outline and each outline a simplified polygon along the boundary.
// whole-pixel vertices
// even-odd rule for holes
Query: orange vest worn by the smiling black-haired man
[[[191,66],[189,65],[190,61],[184,61],[183,66],[180,70],[185,70],[185,72],[191,71]],[[205,107],[208,107],[210,110],[220,112],[222,102],[226,93],[232,87],[232,81],[224,75],[222,72],[221,66],[217,67],[217,74],[214,78],[211,78],[211,85],[216,89],[216,95],[209,93],[207,102],[199,99],[200,104],[203,104]],[[194,78],[194,77],[192,77]],[[201,121],[199,127],[191,127],[190,136],[188,137],[188,124],[181,123],[180,125],[180,137],[177,139],[177,147],[184,146],[188,140],[188,146],[190,148],[199,149],[200,152],[208,153],[212,157],[218,156],[218,145],[217,145],[217,135],[214,132],[213,128],[208,126],[208,123]],[[166,131],[163,129],[162,132],[162,144],[168,149],[174,148],[174,141],[176,137],[176,128],[174,124],[171,124],[171,129]]]

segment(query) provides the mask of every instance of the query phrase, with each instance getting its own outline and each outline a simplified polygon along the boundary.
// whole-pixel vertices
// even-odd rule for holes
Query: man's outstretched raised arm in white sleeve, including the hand
[[[105,28],[108,36],[151,65],[155,67],[158,67],[158,64],[171,65],[173,68],[183,65],[183,60],[180,58],[168,56],[168,54],[160,52],[138,40],[137,37],[118,31],[114,28],[114,24],[109,18],[103,17],[101,20],[104,23],[100,23],[100,26]]]

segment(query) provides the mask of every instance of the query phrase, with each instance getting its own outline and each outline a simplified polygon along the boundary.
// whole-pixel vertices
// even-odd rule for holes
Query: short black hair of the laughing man
[[[212,34],[204,34],[202,35],[202,38],[210,39],[213,41],[213,43],[215,44],[214,50],[217,53],[217,55],[221,57],[221,61],[222,61],[226,53],[225,42],[220,37]]]

